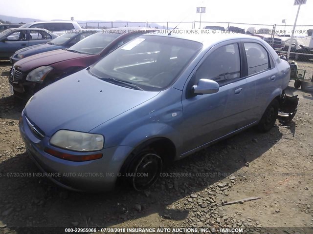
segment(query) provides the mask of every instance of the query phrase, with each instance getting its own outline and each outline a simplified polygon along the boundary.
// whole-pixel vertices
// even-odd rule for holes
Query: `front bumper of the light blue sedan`
[[[131,147],[103,149],[103,157],[96,160],[73,162],[45,153],[46,147],[60,152],[66,150],[49,145],[50,137],[37,138],[22,113],[20,132],[25,148],[39,169],[55,184],[72,191],[110,191],[114,188],[119,170]],[[71,154],[79,154],[70,152]]]

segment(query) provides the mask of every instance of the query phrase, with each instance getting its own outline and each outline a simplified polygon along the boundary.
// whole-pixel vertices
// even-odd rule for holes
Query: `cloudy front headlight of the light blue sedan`
[[[50,144],[73,151],[97,151],[103,148],[104,138],[99,134],[59,130],[50,139]]]

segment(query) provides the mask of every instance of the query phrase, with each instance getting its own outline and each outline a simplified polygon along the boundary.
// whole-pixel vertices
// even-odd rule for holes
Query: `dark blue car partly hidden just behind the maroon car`
[[[78,41],[85,39],[96,32],[100,32],[100,30],[86,29],[82,30],[82,32],[65,33],[60,37],[57,37],[56,39],[53,39],[45,44],[33,45],[16,51],[14,55],[10,57],[10,61],[12,64],[14,64],[18,60],[26,58],[31,55],[71,47],[75,45]]]

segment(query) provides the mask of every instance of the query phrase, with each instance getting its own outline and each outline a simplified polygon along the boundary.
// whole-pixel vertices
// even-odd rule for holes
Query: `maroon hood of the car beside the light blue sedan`
[[[69,59],[77,59],[89,55],[69,52],[67,50],[53,50],[37,55],[32,55],[14,63],[15,68],[26,72],[40,66],[47,66],[56,62],[62,62]]]

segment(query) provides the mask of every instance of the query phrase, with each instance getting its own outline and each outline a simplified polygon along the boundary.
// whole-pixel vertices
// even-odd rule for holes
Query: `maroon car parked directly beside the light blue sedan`
[[[18,98],[28,99],[45,86],[89,67],[124,43],[153,31],[151,28],[134,27],[104,29],[69,49],[21,59],[10,70],[10,92]]]

